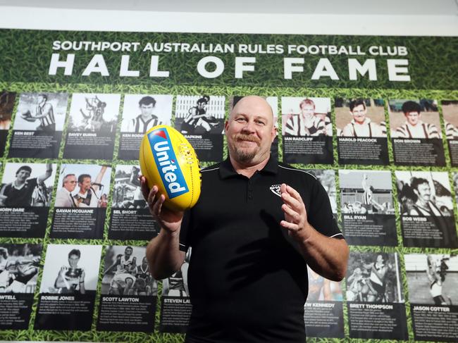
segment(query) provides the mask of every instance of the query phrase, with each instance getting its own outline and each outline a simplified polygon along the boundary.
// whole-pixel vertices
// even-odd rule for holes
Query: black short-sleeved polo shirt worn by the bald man
[[[272,158],[251,178],[229,159],[202,170],[180,231],[180,249],[192,247],[186,342],[304,342],[307,265],[280,227],[282,183],[301,194],[316,230],[342,237],[328,194],[304,170]]]

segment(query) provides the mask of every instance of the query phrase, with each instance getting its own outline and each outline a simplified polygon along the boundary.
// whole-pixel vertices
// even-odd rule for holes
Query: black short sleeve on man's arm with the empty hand
[[[312,187],[311,202],[307,213],[309,223],[321,234],[342,239],[337,221],[333,216],[328,193],[318,180]]]

